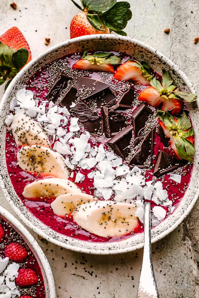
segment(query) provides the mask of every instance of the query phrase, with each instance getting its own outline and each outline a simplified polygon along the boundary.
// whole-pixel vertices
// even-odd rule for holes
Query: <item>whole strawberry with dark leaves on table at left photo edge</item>
[[[31,60],[30,47],[17,27],[12,27],[0,36],[0,85],[7,79],[8,84]]]

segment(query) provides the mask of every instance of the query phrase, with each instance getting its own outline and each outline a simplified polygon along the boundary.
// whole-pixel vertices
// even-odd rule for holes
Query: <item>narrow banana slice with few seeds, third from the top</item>
[[[22,195],[25,198],[57,197],[68,192],[81,192],[81,189],[70,180],[47,178],[34,181],[25,186]]]

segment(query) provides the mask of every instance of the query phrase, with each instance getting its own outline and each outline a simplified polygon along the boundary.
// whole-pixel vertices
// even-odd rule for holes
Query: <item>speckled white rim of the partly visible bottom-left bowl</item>
[[[4,217],[6,220],[8,220],[14,228],[16,228],[24,238],[25,242],[26,239],[31,243],[30,249],[33,248],[33,250],[36,252],[37,256],[36,259],[39,259],[41,262],[46,279],[48,281],[48,290],[49,290],[49,298],[55,298],[56,292],[55,292],[55,283],[53,278],[52,269],[50,267],[49,261],[46,258],[43,250],[35,240],[35,238],[30,234],[30,232],[23,226],[23,224],[20,223],[16,217],[14,217],[9,211],[7,211],[5,208],[0,206],[0,215]]]

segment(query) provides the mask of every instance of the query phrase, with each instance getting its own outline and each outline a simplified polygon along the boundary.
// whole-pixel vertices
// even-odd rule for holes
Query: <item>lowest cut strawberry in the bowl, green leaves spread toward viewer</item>
[[[193,145],[194,130],[185,112],[174,118],[169,112],[158,111],[159,124],[164,134],[169,138],[171,149],[179,159],[193,161],[195,147]]]

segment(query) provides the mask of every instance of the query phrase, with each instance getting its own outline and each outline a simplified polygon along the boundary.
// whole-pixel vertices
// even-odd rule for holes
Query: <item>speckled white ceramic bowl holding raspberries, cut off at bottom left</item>
[[[8,212],[1,206],[0,217],[4,219],[8,224],[10,224],[17,233],[19,233],[19,235],[24,239],[24,241],[28,244],[28,246],[34,253],[44,278],[46,298],[56,298],[53,273],[51,271],[49,261],[46,259],[46,256],[44,255],[39,244],[28,232],[28,230],[10,212]]]

